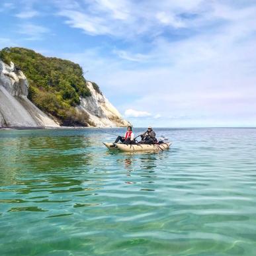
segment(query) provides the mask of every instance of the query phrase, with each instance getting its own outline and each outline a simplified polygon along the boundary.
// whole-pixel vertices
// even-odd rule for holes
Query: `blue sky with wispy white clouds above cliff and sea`
[[[0,48],[83,67],[134,126],[256,126],[255,0],[0,0]]]

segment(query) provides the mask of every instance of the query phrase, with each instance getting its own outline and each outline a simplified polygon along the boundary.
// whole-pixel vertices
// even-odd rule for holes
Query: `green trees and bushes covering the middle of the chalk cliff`
[[[83,69],[78,64],[46,58],[32,50],[17,47],[3,48],[0,59],[6,64],[13,62],[16,69],[26,75],[28,99],[34,105],[56,117],[62,125],[87,126],[88,116],[75,110],[80,103],[79,97],[91,96]]]

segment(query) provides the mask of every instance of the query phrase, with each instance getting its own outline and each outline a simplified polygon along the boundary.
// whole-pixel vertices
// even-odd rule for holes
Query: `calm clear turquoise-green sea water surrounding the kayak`
[[[255,255],[256,129],[136,154],[99,131],[0,131],[1,255]]]

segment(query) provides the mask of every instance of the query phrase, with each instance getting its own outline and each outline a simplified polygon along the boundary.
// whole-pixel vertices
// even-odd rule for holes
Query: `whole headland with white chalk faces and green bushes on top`
[[[0,51],[0,127],[129,124],[78,64],[25,48]]]

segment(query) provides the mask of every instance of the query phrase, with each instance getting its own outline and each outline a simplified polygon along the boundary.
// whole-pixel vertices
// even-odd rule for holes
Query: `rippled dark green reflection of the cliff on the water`
[[[64,208],[99,205],[89,198],[97,196],[95,191],[104,184],[104,179],[90,174],[97,162],[94,138],[73,131],[71,135],[62,133],[22,131],[22,136],[17,136],[16,131],[10,131],[6,138],[1,134],[0,192],[5,193],[0,198],[1,213],[54,208],[58,214],[53,215],[68,216],[72,213],[63,213]]]

